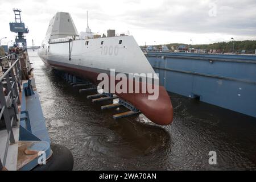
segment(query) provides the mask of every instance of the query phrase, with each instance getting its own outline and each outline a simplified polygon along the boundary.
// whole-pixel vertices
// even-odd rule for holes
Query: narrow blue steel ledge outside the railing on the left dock
[[[38,93],[32,90],[31,80],[28,80],[28,82],[23,84],[19,141],[30,142],[30,146],[27,150],[44,151],[46,159],[51,156],[51,147],[46,128],[46,121],[43,117]],[[24,161],[24,165],[20,167],[19,170],[28,171],[33,169],[38,166],[39,158],[40,155],[37,158],[30,160],[25,156],[24,160],[26,161]]]

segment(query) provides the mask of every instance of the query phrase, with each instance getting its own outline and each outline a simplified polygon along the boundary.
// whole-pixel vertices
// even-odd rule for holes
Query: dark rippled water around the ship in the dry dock
[[[71,150],[75,170],[256,169],[256,118],[170,93],[174,122],[118,119],[79,94],[29,52],[51,142]],[[88,93],[92,94],[92,93]],[[217,165],[208,163],[217,152]]]

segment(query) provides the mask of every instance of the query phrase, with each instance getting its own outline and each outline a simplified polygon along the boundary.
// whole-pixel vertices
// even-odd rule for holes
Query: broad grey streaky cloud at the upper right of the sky
[[[210,3],[216,6],[215,16],[209,15]],[[127,23],[155,30],[256,34],[255,1],[250,1],[250,5],[244,1],[165,1],[160,8],[128,10],[123,16]]]

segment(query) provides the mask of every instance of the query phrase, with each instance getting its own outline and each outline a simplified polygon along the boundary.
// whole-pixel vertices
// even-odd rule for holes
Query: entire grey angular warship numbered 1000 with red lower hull
[[[90,36],[81,39],[71,15],[63,12],[56,13],[51,19],[38,55],[53,69],[90,80],[96,85],[100,82],[97,80],[98,75],[100,73],[110,75],[110,69],[126,75],[155,73],[133,36],[108,38]],[[138,84],[137,81],[132,80],[134,85]],[[115,81],[115,84],[117,83],[118,81]],[[139,80],[141,87],[144,84],[148,85],[148,82]],[[137,107],[150,121],[158,125],[169,125],[172,122],[171,100],[166,89],[161,85],[159,85],[158,98],[155,100],[148,99],[151,94],[149,92],[115,94]]]

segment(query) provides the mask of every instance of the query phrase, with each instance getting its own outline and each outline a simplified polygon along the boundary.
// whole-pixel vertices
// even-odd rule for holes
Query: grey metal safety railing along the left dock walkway
[[[0,170],[6,165],[7,152],[10,144],[15,143],[13,126],[16,126],[20,104],[20,92],[22,84],[22,71],[20,69],[19,55],[12,54],[0,58],[0,130],[6,130],[7,140],[3,158],[0,159]],[[0,138],[1,140],[3,138]]]

